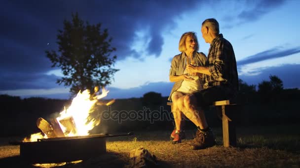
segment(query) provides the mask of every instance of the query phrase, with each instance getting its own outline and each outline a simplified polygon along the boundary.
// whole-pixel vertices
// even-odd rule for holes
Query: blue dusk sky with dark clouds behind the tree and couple
[[[200,30],[207,18],[216,18],[231,42],[240,79],[258,85],[277,75],[285,88],[300,88],[299,6],[299,0],[1,0],[0,94],[69,98],[45,51],[58,50],[58,29],[72,12],[101,23],[113,39],[120,71],[109,98],[168,96],[181,35],[197,32],[199,52],[208,53]]]

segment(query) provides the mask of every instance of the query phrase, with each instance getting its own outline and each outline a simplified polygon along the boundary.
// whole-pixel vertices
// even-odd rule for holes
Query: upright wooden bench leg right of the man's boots
[[[224,147],[236,146],[235,123],[226,115],[224,105],[222,106],[222,127]]]

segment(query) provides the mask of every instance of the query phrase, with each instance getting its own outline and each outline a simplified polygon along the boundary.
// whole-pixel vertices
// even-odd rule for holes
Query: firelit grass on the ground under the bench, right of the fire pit
[[[197,151],[190,150],[188,140],[171,144],[170,131],[139,132],[130,143],[110,139],[107,147],[113,152],[129,153],[143,146],[159,159],[162,167],[300,167],[300,131],[295,128],[298,126],[238,128],[237,147],[231,148],[223,147],[222,128],[214,128],[218,145]],[[192,139],[194,130],[186,132]],[[123,160],[128,163],[126,154]]]

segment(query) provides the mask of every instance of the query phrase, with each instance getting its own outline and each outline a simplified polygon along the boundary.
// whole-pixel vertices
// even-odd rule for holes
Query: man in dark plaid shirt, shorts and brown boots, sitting
[[[192,149],[203,149],[216,144],[214,134],[206,122],[204,109],[212,102],[236,98],[238,75],[231,44],[220,34],[216,19],[206,19],[201,27],[202,37],[210,48],[205,66],[188,65],[189,73],[205,74],[203,90],[185,95],[178,100],[178,108],[196,126],[190,143]]]

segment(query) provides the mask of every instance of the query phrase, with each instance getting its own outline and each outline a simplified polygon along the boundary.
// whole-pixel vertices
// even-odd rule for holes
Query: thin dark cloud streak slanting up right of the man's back
[[[286,50],[278,50],[278,48],[272,48],[266,51],[263,51],[261,53],[258,53],[253,56],[247,56],[246,58],[237,61],[237,66],[241,65],[246,65],[249,63],[255,63],[267,59],[274,59],[274,58],[279,58],[279,57],[284,57],[284,56],[290,56],[293,54],[300,53],[300,47],[295,47],[291,49],[286,49]]]

